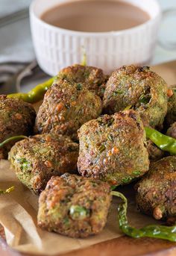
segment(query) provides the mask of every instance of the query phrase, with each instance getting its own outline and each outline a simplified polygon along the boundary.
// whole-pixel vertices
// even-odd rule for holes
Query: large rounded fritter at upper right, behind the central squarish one
[[[107,81],[104,113],[116,113],[126,107],[139,112],[145,125],[162,128],[167,112],[166,81],[148,66],[122,66]]]

